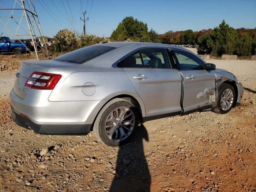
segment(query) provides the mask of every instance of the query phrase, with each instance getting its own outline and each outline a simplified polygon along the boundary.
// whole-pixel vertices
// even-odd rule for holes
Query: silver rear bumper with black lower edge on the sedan
[[[22,99],[14,89],[11,90],[12,119],[18,125],[40,134],[88,134],[106,103],[106,100],[50,102],[48,94],[29,94],[31,92]]]

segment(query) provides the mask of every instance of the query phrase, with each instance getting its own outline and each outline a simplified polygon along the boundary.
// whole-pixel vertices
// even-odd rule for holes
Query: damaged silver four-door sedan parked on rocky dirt
[[[177,46],[108,42],[52,60],[24,61],[10,93],[12,118],[40,134],[94,135],[126,143],[139,123],[195,111],[224,114],[243,86]]]

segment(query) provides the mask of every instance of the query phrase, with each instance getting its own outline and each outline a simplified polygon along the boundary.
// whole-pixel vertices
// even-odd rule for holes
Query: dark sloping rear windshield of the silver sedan
[[[88,46],[66,53],[62,56],[58,56],[53,60],[82,64],[113,49],[115,49],[115,47],[101,45]]]

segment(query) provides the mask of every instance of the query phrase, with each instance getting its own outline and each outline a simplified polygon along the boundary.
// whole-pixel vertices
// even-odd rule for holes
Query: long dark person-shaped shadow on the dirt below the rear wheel
[[[144,154],[143,140],[148,141],[148,133],[141,125],[130,142],[119,147],[116,174],[110,192],[150,191],[151,177]]]

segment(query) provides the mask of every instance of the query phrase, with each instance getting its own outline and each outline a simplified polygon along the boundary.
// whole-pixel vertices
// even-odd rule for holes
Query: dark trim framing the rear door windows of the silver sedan
[[[140,50],[144,50],[144,49],[163,49],[163,50],[165,50],[166,58],[169,61],[169,64],[168,64],[169,68],[145,68],[144,67],[144,62],[142,60],[141,52],[140,52]],[[172,67],[172,62],[170,61],[169,54],[168,54],[168,51],[166,49],[168,49],[168,47],[142,47],[142,48],[137,48],[137,49],[133,50],[132,52],[126,54],[122,58],[120,58],[118,61],[114,62],[114,64],[112,64],[112,68],[120,68],[120,67],[117,66],[117,64],[121,63],[122,64],[122,68],[134,69],[135,67],[124,67],[123,60],[126,59],[127,57],[129,57],[130,55],[134,54],[135,52],[139,52],[140,53],[140,59],[142,61],[142,66],[143,66],[142,68],[145,68],[145,69],[172,69],[173,68]]]

